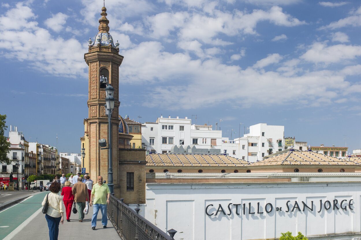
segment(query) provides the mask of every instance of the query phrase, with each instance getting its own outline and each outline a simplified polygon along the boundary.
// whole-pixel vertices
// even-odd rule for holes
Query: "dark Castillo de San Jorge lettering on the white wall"
[[[211,210],[212,208],[217,210]],[[253,209],[253,210],[252,210]],[[208,216],[217,216],[218,214],[224,214],[224,215],[240,215],[240,214],[264,214],[271,213],[272,211],[284,211],[286,213],[288,212],[294,212],[295,210],[304,212],[305,210],[309,210],[310,212],[317,211],[318,213],[322,211],[322,209],[325,210],[335,210],[335,209],[342,209],[344,211],[353,210],[353,199],[347,200],[347,199],[334,199],[332,201],[326,200],[322,201],[320,199],[319,201],[311,201],[309,205],[307,205],[304,201],[301,201],[301,203],[297,201],[290,201],[288,200],[286,202],[286,205],[284,206],[273,206],[271,203],[267,203],[264,206],[261,206],[258,202],[256,205],[252,205],[252,203],[244,203],[244,204],[233,204],[230,203],[227,206],[218,204],[218,206],[214,206],[213,204],[209,204],[205,207],[205,214]],[[256,211],[257,210],[257,211]]]

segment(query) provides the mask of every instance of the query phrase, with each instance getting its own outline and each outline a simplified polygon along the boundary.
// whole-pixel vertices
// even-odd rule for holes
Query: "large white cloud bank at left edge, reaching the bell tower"
[[[83,60],[86,43],[55,38],[48,30],[38,27],[38,22],[31,21],[35,18],[23,3],[17,3],[0,16],[0,49],[6,52],[3,56],[26,61],[36,71],[51,75],[86,77],[87,65]]]

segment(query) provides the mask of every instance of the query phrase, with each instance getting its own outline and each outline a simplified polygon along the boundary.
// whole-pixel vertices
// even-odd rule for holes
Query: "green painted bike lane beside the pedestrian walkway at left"
[[[22,203],[18,203],[0,212],[0,239],[4,239],[21,223],[42,207],[42,202],[47,192],[35,194]],[[9,227],[3,227],[9,226]]]

